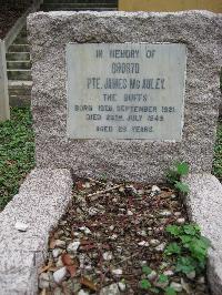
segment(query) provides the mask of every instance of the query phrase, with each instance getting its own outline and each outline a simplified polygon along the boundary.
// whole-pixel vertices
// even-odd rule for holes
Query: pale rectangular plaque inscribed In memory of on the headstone
[[[181,141],[186,49],[67,44],[68,136]]]

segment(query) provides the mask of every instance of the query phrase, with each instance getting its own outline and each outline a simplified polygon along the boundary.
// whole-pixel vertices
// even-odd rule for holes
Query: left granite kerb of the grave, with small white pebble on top
[[[33,170],[0,213],[0,294],[36,294],[50,230],[72,195],[69,170]],[[14,224],[28,224],[19,232]]]

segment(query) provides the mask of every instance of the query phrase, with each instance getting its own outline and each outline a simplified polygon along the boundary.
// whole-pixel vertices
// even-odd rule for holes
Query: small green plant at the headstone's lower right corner
[[[188,175],[189,165],[186,162],[176,162],[174,165],[167,171],[167,180],[172,184],[178,191],[183,194],[190,192],[189,185],[181,182],[181,177]]]

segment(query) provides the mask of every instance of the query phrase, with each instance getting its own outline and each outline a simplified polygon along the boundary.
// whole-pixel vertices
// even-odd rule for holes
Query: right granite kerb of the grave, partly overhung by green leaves
[[[190,218],[201,226],[210,238],[208,277],[212,294],[222,294],[222,185],[211,174],[192,174],[185,182],[190,186],[186,206]]]

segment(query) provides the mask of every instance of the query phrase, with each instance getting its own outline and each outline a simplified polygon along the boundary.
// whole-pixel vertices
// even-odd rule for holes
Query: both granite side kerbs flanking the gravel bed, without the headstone
[[[185,205],[190,220],[210,238],[208,278],[213,295],[222,294],[222,185],[211,174],[186,177],[190,194]],[[65,212],[72,197],[69,170],[33,170],[19,194],[0,213],[0,294],[34,295],[38,269],[43,265],[50,231]],[[22,233],[16,222],[27,224]]]

